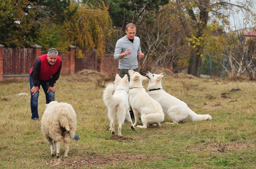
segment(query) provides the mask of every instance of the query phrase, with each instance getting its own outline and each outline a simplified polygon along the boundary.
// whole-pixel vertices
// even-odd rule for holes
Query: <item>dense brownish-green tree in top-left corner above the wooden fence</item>
[[[0,0],[0,4],[0,43],[6,47],[30,47],[38,25],[35,18],[40,13],[36,3]]]

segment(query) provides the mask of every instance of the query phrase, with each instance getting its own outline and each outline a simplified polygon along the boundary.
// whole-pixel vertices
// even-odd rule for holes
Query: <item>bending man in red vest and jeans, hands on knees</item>
[[[45,93],[46,104],[54,101],[56,91],[54,83],[59,79],[61,65],[62,60],[58,56],[58,51],[55,48],[49,49],[47,54],[39,56],[35,60],[29,74],[32,120],[39,119],[38,97],[40,85]]]

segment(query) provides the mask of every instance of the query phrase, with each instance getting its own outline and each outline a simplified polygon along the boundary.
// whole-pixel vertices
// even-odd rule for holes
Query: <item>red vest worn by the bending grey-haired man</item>
[[[38,57],[41,60],[41,68],[38,74],[38,80],[46,81],[49,80],[58,70],[61,63],[61,58],[57,56],[57,60],[54,65],[49,65],[47,61],[47,54]],[[30,69],[30,74],[33,67]]]

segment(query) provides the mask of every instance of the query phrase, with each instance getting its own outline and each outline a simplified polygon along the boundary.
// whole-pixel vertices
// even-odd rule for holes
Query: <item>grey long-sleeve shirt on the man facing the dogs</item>
[[[131,54],[119,58],[119,54],[124,53],[127,49],[130,49]],[[138,68],[138,52],[141,52],[140,38],[134,37],[133,43],[124,36],[116,42],[114,59],[119,60],[118,69],[136,69]]]

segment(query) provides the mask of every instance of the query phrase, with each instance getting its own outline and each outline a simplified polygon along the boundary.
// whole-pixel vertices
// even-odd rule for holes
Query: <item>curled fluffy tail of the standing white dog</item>
[[[103,101],[106,106],[115,107],[117,105],[116,100],[112,95],[114,90],[114,84],[110,83],[106,86],[105,90],[103,91]]]

